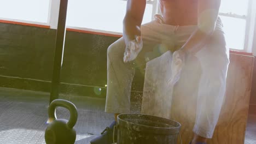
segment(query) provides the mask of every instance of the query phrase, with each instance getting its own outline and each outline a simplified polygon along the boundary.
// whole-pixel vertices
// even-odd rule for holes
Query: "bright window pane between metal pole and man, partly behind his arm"
[[[151,21],[152,5],[147,4],[143,23]],[[126,1],[70,0],[67,26],[122,32]]]

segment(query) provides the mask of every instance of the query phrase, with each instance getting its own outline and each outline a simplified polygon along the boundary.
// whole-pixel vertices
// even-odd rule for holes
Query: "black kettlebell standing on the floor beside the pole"
[[[70,112],[69,121],[56,118],[56,107],[65,107]],[[77,107],[67,100],[56,99],[48,108],[49,121],[51,122],[45,130],[44,139],[47,144],[73,144],[77,136],[73,129],[77,122]]]

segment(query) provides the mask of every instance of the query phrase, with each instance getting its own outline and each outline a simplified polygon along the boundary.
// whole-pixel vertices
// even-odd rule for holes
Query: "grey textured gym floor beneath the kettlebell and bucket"
[[[72,101],[78,108],[75,143],[89,143],[113,121],[113,115],[104,113],[105,99],[72,95],[61,98]],[[0,88],[0,143],[45,143],[48,100],[48,93]],[[58,108],[57,117],[69,119],[69,112]],[[249,116],[245,143],[256,143],[256,116]]]

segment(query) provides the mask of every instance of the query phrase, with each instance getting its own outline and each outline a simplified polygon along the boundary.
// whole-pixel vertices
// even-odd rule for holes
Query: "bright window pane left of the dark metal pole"
[[[50,0],[0,0],[0,19],[48,22]]]

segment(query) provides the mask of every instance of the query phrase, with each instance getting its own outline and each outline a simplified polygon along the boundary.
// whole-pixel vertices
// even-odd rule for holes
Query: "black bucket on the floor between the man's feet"
[[[121,114],[114,133],[118,144],[177,144],[180,128],[180,123],[166,118]]]

